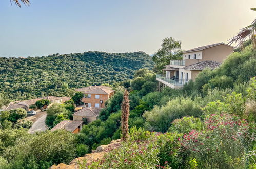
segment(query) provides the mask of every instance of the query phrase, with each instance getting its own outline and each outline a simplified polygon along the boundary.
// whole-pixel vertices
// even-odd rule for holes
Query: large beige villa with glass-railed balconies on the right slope
[[[170,65],[162,69],[163,74],[156,75],[159,90],[161,86],[179,89],[190,80],[195,80],[205,68],[213,70],[219,67],[233,49],[230,45],[218,43],[182,52],[182,60],[170,60]]]

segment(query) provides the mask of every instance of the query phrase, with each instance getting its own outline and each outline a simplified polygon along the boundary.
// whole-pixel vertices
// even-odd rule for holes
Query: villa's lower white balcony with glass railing
[[[179,80],[177,78],[166,78],[163,75],[156,75],[156,80],[160,81],[164,85],[173,88],[173,89],[179,89],[183,87],[186,83],[188,83],[188,80]]]

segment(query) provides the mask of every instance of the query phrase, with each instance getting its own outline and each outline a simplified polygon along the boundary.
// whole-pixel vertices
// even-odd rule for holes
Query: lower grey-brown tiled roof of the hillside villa
[[[221,63],[216,61],[201,61],[196,64],[188,65],[183,67],[182,69],[188,69],[188,70],[203,70],[205,68],[209,69],[215,69],[219,67]]]

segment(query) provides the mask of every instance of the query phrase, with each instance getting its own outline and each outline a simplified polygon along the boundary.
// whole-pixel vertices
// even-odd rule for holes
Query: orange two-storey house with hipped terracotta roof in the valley
[[[82,92],[84,97],[84,107],[104,108],[105,102],[114,95],[114,90],[106,86],[89,86],[80,89],[75,89],[77,92]]]

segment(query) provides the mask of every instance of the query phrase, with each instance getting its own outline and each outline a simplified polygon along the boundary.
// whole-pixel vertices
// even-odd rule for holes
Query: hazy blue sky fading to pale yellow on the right
[[[104,51],[153,54],[165,37],[182,49],[224,42],[256,16],[255,0],[0,1],[0,57]]]

